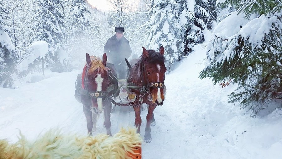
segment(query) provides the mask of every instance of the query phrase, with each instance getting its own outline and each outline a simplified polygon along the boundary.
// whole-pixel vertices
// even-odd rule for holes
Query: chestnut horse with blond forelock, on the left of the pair
[[[86,53],[86,62],[82,71],[80,102],[83,104],[88,134],[92,135],[92,128],[95,131],[97,114],[104,110],[104,125],[107,134],[112,135],[110,112],[112,109],[111,97],[115,90],[107,88],[109,86],[117,88],[118,81],[115,78],[108,77],[109,67],[106,53],[103,55],[102,61],[99,57],[91,56],[90,58],[89,54]],[[112,75],[116,76],[113,70],[111,69]]]

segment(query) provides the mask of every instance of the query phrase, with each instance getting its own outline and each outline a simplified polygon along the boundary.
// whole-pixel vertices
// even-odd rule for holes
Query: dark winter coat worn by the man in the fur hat
[[[110,63],[119,64],[123,62],[125,58],[129,58],[132,51],[128,40],[124,36],[118,40],[116,35],[114,35],[108,39],[104,46],[104,52],[107,53],[107,58]]]

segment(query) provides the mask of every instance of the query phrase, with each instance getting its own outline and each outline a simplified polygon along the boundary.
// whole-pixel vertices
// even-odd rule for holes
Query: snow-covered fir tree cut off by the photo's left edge
[[[13,88],[11,75],[16,72],[18,54],[16,48],[8,35],[10,29],[5,21],[7,20],[8,10],[4,8],[0,0],[0,85],[6,88]]]

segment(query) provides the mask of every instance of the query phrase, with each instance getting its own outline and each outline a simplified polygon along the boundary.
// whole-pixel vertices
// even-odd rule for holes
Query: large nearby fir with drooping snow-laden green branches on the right
[[[237,11],[214,29],[201,79],[210,77],[223,86],[238,83],[230,102],[240,102],[253,110],[253,116],[270,102],[281,106],[281,0],[227,0],[221,5]]]

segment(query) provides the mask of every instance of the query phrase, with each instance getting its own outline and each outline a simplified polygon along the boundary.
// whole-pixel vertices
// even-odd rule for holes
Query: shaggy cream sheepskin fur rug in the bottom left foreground
[[[130,154],[136,155],[134,149],[141,142],[136,129],[122,128],[112,137],[106,134],[64,135],[60,130],[51,129],[34,142],[27,141],[21,133],[18,142],[14,144],[0,140],[0,159],[124,159],[132,158]]]

